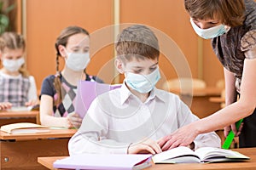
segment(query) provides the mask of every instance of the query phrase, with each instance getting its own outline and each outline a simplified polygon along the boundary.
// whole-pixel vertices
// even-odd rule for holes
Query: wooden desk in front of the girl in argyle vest
[[[76,129],[49,129],[47,133],[9,134],[0,131],[0,169],[44,169],[38,156],[68,156],[68,140]]]

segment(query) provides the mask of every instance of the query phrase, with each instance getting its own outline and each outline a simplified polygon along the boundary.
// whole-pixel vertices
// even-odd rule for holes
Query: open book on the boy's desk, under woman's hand
[[[153,156],[154,163],[200,163],[217,161],[244,161],[249,159],[249,157],[233,150],[202,147],[193,151],[185,146],[180,146],[172,150],[166,150]]]

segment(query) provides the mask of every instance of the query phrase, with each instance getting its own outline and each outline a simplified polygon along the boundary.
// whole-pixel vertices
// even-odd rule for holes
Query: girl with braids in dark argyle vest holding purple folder
[[[44,79],[41,88],[40,121],[54,127],[79,127],[82,119],[74,112],[79,80],[102,82],[85,72],[90,62],[89,33],[79,26],[68,26],[55,42],[56,71]],[[65,59],[59,71],[59,59]]]

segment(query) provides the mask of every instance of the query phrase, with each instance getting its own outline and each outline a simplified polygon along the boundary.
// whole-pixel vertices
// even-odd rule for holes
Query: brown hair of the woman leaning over
[[[193,19],[207,20],[218,17],[226,26],[241,26],[245,20],[244,0],[184,0]]]

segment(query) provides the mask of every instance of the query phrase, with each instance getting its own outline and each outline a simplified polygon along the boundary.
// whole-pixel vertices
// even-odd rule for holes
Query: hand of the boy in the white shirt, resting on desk
[[[147,139],[139,144],[131,144],[128,154],[158,154],[162,152],[160,145],[152,139]]]

